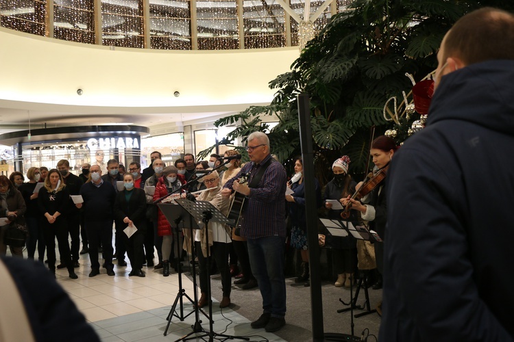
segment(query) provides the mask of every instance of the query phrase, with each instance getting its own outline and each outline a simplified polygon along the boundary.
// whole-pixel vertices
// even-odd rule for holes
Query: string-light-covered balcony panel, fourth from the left
[[[191,50],[191,2],[150,0],[152,49]]]

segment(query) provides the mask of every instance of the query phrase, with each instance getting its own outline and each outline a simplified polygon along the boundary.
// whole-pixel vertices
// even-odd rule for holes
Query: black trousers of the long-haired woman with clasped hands
[[[56,219],[56,222],[51,224],[48,222],[47,218],[43,218],[42,229],[43,234],[45,235],[45,242],[47,244],[48,268],[56,269],[56,237],[61,263],[66,265],[66,267],[73,267],[73,265],[71,265],[70,245],[68,244],[68,226],[66,224],[66,219],[60,215]]]

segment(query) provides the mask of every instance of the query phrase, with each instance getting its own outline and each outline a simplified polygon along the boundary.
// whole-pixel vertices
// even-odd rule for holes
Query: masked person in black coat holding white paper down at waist
[[[145,191],[134,187],[134,176],[131,173],[123,175],[123,186],[125,189],[118,192],[116,202],[114,202],[114,220],[119,226],[133,228],[137,231],[130,237],[123,234],[123,240],[127,248],[127,254],[132,265],[132,271],[129,276],[144,277],[143,260],[145,254],[143,252],[143,243],[145,241],[146,231],[146,209],[147,202]]]

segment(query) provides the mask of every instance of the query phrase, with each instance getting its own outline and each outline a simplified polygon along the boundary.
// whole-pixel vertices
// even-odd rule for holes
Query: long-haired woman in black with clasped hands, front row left
[[[69,277],[77,279],[71,263],[70,245],[68,242],[68,222],[66,212],[70,193],[64,185],[62,175],[57,169],[51,169],[45,179],[45,186],[39,189],[38,205],[42,213],[41,220],[45,244],[47,244],[48,267],[53,276],[56,275],[56,237],[61,262],[66,265]]]

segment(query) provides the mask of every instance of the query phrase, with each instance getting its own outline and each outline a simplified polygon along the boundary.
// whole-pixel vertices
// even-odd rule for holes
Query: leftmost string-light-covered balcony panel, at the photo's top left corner
[[[0,25],[45,36],[46,0],[0,0]]]

